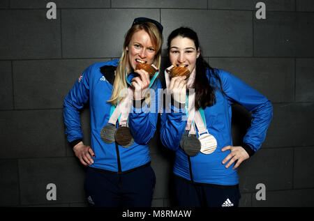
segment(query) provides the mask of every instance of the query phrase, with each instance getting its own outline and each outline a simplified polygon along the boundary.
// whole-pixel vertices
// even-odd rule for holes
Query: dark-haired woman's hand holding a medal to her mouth
[[[175,101],[186,103],[186,76],[172,77],[169,90]]]

